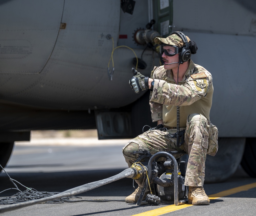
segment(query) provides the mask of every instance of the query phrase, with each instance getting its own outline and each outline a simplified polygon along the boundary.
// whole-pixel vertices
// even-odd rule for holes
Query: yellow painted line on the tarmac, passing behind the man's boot
[[[225,196],[228,196],[228,195],[231,195],[231,194],[236,194],[236,193],[239,193],[241,191],[246,191],[246,190],[249,190],[249,189],[252,189],[252,188],[255,188],[255,187],[256,187],[256,182],[251,183],[251,184],[247,184],[247,185],[242,185],[242,186],[239,186],[239,187],[234,187],[234,188],[231,188],[229,190],[224,190],[224,191],[222,191],[220,193],[217,193],[217,194],[209,195],[209,199],[218,199],[220,197],[225,197]],[[180,206],[169,205],[169,206],[165,206],[165,207],[162,207],[162,208],[153,209],[153,210],[150,210],[150,211],[134,214],[132,216],[148,216],[148,215],[158,216],[158,215],[166,214],[166,213],[176,211],[176,210],[179,210],[179,209],[187,208],[189,206],[192,206],[192,205],[190,205],[190,204],[184,204],[184,205],[180,205]]]

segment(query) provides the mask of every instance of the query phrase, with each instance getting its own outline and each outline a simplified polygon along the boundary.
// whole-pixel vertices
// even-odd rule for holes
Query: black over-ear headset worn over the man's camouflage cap
[[[179,53],[179,62],[184,63],[184,62],[186,62],[190,59],[191,54],[196,53],[197,45],[194,41],[189,41],[188,42],[187,37],[185,36],[185,34],[183,34],[180,31],[172,32],[170,35],[172,35],[172,34],[177,34],[182,39],[183,43],[185,44],[185,46],[182,48],[182,50]]]

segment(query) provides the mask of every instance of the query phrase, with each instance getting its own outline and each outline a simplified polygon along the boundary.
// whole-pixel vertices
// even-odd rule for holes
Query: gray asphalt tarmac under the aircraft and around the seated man
[[[86,183],[116,175],[127,168],[122,156],[124,140],[42,139],[16,143],[6,172],[19,183],[39,192],[62,192]],[[8,176],[0,174],[0,191],[13,188]],[[20,190],[24,187],[17,183]],[[256,179],[241,167],[227,181],[205,184],[209,206],[136,206],[123,200],[134,189],[132,179],[124,178],[89,190],[78,196],[83,200],[122,200],[108,202],[64,202],[37,204],[2,213],[5,215],[256,215]],[[17,193],[7,190],[1,197]],[[0,208],[3,205],[0,205]]]

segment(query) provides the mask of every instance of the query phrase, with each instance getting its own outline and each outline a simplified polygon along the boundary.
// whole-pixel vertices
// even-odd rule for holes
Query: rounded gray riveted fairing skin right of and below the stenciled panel
[[[130,91],[128,83],[131,68],[135,67],[131,50],[115,50],[114,79],[110,81],[107,74],[113,44],[106,35],[113,37],[114,47],[119,36],[120,2],[117,2],[66,1],[62,17],[66,28],[58,29],[49,61],[38,75],[4,77],[5,83],[19,83],[9,90],[8,85],[4,86],[5,100],[41,108],[80,110],[121,107],[141,97]],[[40,37],[40,43],[48,44],[47,37],[44,38],[44,35]],[[142,50],[135,52],[139,55]],[[152,59],[151,54],[146,59]],[[112,71],[112,61],[110,63]],[[146,74],[150,75],[150,71]]]

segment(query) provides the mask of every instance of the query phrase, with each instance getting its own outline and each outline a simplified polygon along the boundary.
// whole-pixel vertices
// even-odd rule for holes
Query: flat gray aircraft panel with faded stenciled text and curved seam
[[[39,73],[54,48],[63,0],[0,3],[0,73]]]

